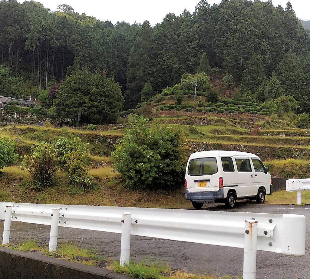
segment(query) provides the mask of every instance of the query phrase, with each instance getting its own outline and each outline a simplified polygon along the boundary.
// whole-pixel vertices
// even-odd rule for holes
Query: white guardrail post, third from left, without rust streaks
[[[122,219],[122,239],[121,239],[121,266],[129,263],[130,259],[130,236],[131,236],[131,213],[124,212]]]

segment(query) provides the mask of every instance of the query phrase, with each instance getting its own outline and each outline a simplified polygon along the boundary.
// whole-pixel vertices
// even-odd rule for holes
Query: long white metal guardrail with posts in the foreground
[[[129,263],[131,235],[244,248],[243,279],[255,279],[257,249],[305,254],[303,215],[0,202],[0,219],[2,244],[10,240],[11,221],[50,225],[50,251],[59,226],[121,233],[121,265]]]

